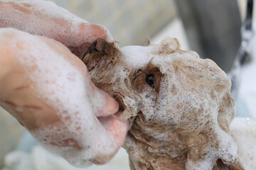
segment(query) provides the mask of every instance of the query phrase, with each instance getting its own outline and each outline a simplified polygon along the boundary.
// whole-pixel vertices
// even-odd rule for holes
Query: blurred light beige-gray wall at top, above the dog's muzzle
[[[146,45],[176,16],[173,0],[53,0],[91,23],[106,26],[119,46]]]

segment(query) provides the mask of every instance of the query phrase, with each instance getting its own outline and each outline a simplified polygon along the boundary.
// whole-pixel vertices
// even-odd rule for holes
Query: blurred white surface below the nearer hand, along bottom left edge
[[[6,155],[4,169],[2,170],[129,170],[128,155],[124,149],[120,149],[108,164],[102,166],[90,166],[88,168],[75,168],[65,159],[58,157],[40,145],[33,147],[31,153],[11,152]]]

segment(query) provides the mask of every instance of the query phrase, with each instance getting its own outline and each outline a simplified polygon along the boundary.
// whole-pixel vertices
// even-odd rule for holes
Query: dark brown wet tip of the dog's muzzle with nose
[[[88,71],[92,71],[95,67],[99,67],[99,64],[105,62],[105,64],[111,62],[117,57],[119,52],[114,42],[107,42],[102,38],[98,38],[88,48],[87,52],[82,55],[81,60],[87,66]]]

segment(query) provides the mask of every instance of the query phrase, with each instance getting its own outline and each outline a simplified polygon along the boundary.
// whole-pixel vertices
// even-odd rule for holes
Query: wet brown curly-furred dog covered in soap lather
[[[213,162],[213,169],[242,170],[237,153],[223,148],[220,135],[236,147],[229,128],[235,116],[230,80],[213,61],[186,57],[190,53],[179,46],[176,39],[163,40],[151,54],[167,56],[166,61],[153,57],[137,68],[125,62],[114,42],[98,39],[81,60],[92,83],[114,96],[122,117],[131,120],[124,145],[131,169],[202,169]],[[146,84],[149,74],[154,88]]]

